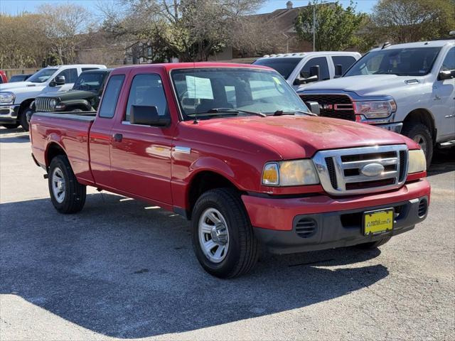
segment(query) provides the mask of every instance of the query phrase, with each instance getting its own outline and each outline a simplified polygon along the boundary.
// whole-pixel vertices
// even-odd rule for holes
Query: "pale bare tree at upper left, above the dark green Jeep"
[[[58,64],[72,64],[76,61],[76,47],[90,27],[90,13],[74,4],[43,4],[38,13],[45,28],[50,50]]]

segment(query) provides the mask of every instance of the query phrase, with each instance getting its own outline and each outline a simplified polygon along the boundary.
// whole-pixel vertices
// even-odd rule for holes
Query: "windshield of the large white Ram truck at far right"
[[[364,55],[343,77],[358,75],[423,76],[432,70],[441,48],[392,48]]]

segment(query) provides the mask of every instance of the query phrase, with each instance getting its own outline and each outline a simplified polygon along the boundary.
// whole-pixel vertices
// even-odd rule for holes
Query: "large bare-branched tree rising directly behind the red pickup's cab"
[[[207,60],[240,41],[238,27],[262,0],[122,0],[105,11],[103,28],[180,61]],[[235,34],[237,33],[237,34]],[[245,33],[243,33],[245,34]]]

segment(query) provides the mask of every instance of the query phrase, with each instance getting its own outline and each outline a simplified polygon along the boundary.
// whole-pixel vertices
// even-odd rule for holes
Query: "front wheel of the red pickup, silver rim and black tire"
[[[201,266],[219,278],[249,272],[259,244],[240,195],[230,188],[209,190],[193,209],[193,248]]]

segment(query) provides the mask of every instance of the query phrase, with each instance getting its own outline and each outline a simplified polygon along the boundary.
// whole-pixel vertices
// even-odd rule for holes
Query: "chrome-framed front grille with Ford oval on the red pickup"
[[[313,160],[321,185],[332,195],[390,190],[406,180],[405,145],[319,151]]]

